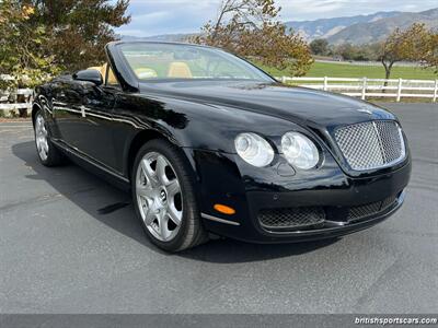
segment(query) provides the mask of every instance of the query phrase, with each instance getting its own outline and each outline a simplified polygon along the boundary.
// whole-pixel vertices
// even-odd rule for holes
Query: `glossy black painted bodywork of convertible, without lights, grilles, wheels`
[[[44,108],[51,141],[111,181],[129,188],[136,150],[150,138],[165,138],[191,163],[201,212],[240,224],[204,220],[206,229],[260,243],[344,235],[382,221],[403,203],[411,175],[408,149],[395,166],[357,173],[348,168],[333,139],[339,126],[396,120],[388,110],[337,94],[285,86],[274,79],[140,83],[119,44],[106,48],[119,87],[59,77],[37,87],[34,105]],[[293,169],[278,153],[288,131],[318,143],[324,161],[316,168]],[[258,168],[240,159],[234,138],[241,132],[256,132],[273,143],[272,165]],[[348,207],[391,196],[397,200],[388,211],[358,223],[343,221]],[[215,203],[234,208],[235,215],[215,211]],[[324,208],[331,223],[313,230],[268,231],[257,220],[260,209],[316,206]]]

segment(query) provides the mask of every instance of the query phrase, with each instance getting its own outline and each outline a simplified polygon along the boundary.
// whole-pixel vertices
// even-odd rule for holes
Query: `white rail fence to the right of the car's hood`
[[[392,97],[400,102],[403,97],[429,98],[437,102],[438,80],[404,79],[351,79],[351,78],[277,78],[285,84],[295,84],[316,90],[332,91],[348,96]],[[387,85],[384,85],[387,83]]]

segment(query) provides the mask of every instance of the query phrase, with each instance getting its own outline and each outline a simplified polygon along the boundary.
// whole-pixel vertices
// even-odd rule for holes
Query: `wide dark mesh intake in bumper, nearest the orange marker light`
[[[258,220],[265,227],[302,227],[324,222],[325,213],[322,208],[263,209]]]

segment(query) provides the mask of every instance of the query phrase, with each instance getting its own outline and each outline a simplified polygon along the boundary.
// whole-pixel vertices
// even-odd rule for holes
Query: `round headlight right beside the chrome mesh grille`
[[[316,145],[308,137],[298,132],[287,132],[283,136],[281,149],[286,160],[298,168],[315,167],[320,161]]]

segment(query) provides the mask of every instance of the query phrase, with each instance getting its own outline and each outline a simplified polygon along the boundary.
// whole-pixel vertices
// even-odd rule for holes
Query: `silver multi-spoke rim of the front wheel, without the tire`
[[[150,152],[141,159],[136,197],[149,232],[161,242],[172,241],[183,219],[183,196],[176,173],[164,155]]]

